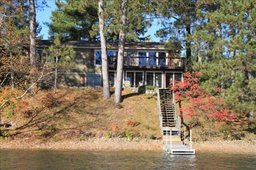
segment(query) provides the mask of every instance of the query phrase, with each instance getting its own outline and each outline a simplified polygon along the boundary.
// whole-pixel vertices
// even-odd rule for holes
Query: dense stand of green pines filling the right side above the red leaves
[[[219,4],[219,5],[218,5]],[[236,113],[256,111],[256,3],[255,1],[200,1],[192,48],[195,70],[201,71],[202,88],[221,90],[224,105]],[[209,7],[215,6],[215,10]]]

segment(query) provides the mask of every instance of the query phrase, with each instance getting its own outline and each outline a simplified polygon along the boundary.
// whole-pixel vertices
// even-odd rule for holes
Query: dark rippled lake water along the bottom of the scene
[[[0,150],[2,170],[256,170],[256,153],[169,155],[143,150]]]

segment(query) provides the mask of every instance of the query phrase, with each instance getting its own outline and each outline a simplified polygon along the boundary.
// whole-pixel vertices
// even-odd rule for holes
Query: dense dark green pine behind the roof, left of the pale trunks
[[[55,34],[62,36],[62,40],[89,40],[99,41],[98,34],[91,38],[89,31],[93,24],[98,23],[98,7],[91,0],[66,0],[66,2],[55,2],[57,9],[52,11],[49,26],[50,39]]]

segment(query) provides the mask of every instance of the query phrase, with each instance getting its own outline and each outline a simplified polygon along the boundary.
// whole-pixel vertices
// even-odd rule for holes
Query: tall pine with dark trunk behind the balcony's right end
[[[196,0],[156,1],[156,16],[161,18],[161,26],[156,35],[167,41],[166,48],[172,48],[174,43],[186,47],[187,69],[191,71],[191,35],[196,25]],[[170,46],[171,45],[171,46]]]

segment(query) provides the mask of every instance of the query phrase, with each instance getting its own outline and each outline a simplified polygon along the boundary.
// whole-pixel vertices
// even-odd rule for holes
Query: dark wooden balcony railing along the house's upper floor
[[[116,68],[117,57],[108,57],[109,68]],[[125,57],[124,68],[185,69],[186,58]]]

